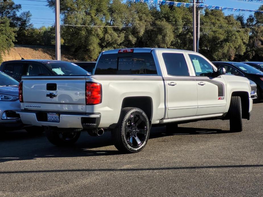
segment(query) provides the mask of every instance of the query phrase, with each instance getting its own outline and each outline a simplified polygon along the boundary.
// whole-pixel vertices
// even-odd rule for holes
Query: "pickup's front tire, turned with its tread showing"
[[[241,98],[234,96],[231,97],[230,107],[229,107],[229,122],[231,132],[241,132],[242,131],[242,108],[241,108]]]

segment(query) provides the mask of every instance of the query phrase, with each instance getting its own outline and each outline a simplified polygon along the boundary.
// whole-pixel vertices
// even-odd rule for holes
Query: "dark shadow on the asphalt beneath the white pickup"
[[[173,134],[167,134],[165,127],[153,127],[150,139],[167,135],[200,135],[230,133],[220,129],[178,127]],[[94,148],[96,150],[94,150]],[[34,160],[37,158],[109,156],[121,154],[113,146],[110,132],[103,136],[91,137],[82,132],[80,139],[70,147],[57,147],[45,137],[30,136],[26,131],[6,132],[0,139],[0,163],[16,160]]]

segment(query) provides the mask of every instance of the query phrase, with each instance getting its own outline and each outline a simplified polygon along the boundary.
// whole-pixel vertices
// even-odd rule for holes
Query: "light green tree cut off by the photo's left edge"
[[[0,62],[3,61],[2,55],[8,53],[15,41],[14,29],[10,27],[8,18],[0,18]]]

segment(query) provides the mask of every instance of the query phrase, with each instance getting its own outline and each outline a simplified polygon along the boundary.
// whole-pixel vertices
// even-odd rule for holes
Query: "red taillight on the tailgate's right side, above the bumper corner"
[[[102,85],[86,82],[86,105],[95,105],[102,102]]]

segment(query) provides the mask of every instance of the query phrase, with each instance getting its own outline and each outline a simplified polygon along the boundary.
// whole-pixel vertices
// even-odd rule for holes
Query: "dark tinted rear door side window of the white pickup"
[[[183,53],[162,53],[168,75],[190,76]]]

